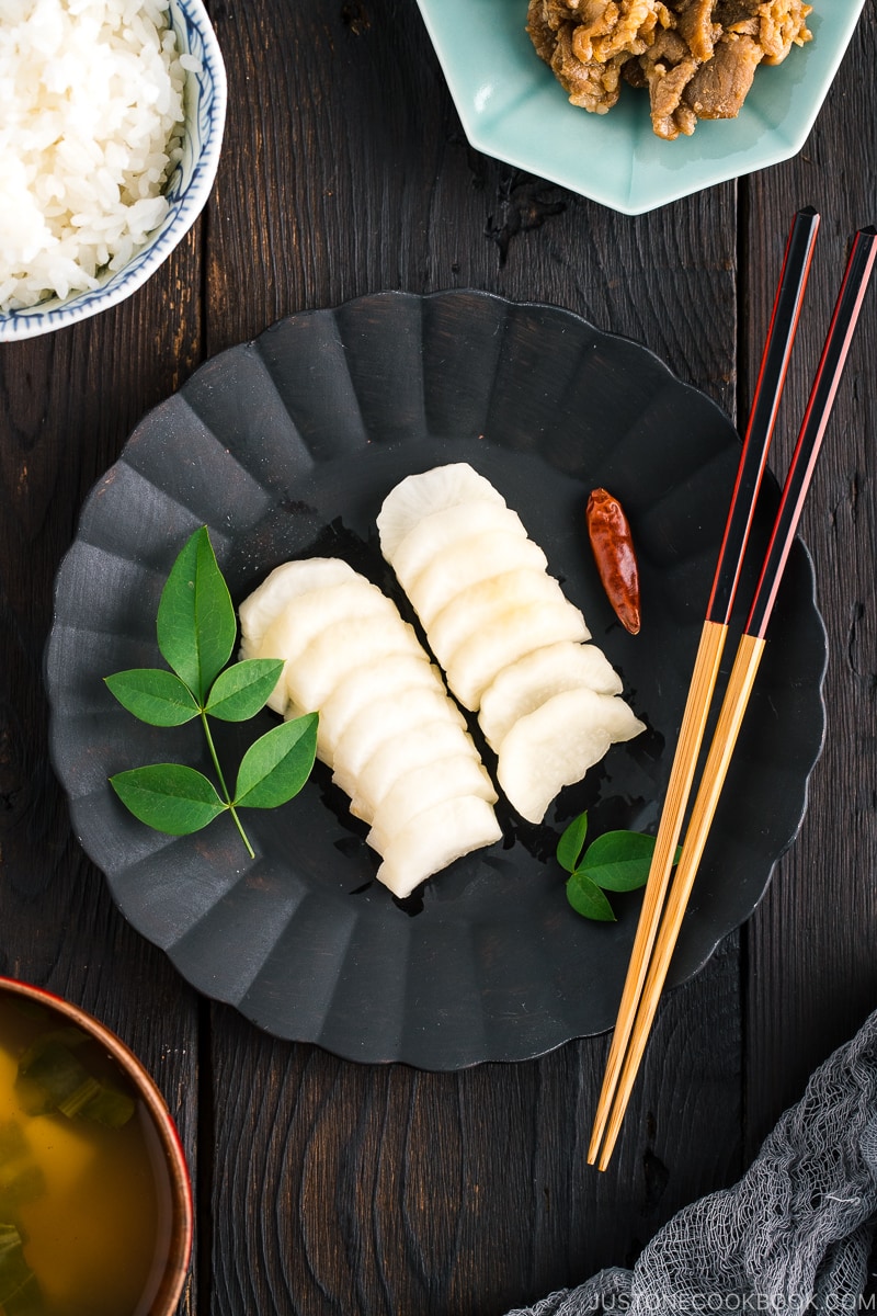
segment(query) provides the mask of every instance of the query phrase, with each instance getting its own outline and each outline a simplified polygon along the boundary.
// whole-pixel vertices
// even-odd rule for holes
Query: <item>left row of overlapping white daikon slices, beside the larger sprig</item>
[[[505,512],[496,497],[480,505]],[[381,880],[391,875],[408,894],[452,858],[497,840],[496,788],[465,717],[413,626],[376,586],[335,559],[291,562],[245,600],[241,617],[242,655],[284,662],[272,707],[287,716],[320,713],[320,757],[351,809],[373,821],[371,841],[394,846]],[[406,832],[414,815],[423,819],[417,837]],[[402,875],[409,854],[414,867]]]

